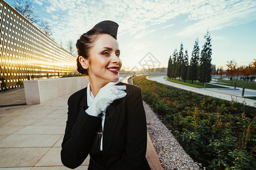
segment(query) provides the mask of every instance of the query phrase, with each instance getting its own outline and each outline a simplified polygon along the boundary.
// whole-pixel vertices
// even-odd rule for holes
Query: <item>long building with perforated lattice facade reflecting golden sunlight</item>
[[[77,73],[76,57],[0,0],[0,90],[19,87],[24,80],[56,78]]]

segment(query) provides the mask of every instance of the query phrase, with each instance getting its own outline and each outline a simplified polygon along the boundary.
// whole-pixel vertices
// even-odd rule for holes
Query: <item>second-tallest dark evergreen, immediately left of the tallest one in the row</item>
[[[192,57],[190,60],[190,65],[188,68],[188,80],[192,80],[192,84],[194,83],[194,80],[197,80],[197,69],[199,65],[199,52],[200,52],[198,41],[199,39],[197,38],[195,41]]]

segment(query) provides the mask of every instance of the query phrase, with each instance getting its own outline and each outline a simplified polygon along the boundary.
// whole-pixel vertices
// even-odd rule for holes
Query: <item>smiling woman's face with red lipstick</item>
[[[108,34],[98,35],[89,52],[90,79],[102,83],[117,81],[122,67],[119,55],[117,40]]]

